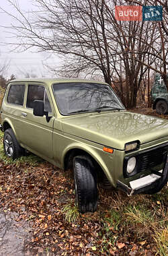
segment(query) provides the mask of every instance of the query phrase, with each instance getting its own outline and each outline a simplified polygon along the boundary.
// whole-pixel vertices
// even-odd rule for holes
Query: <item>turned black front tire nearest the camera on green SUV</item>
[[[97,208],[97,179],[91,161],[85,156],[73,159],[75,203],[79,212],[95,212]]]

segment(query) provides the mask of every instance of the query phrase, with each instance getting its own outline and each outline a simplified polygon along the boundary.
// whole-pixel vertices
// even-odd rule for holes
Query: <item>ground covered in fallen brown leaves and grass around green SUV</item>
[[[11,162],[2,143],[0,156],[0,210],[31,224],[26,255],[167,255],[167,188],[127,197],[99,187],[97,212],[81,215],[71,170],[33,155]]]

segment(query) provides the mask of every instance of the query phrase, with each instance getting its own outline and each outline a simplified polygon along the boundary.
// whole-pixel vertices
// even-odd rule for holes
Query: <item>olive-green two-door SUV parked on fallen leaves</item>
[[[80,212],[97,207],[97,183],[128,195],[167,183],[168,121],[126,111],[112,88],[82,79],[13,80],[1,105],[5,154],[28,150],[73,169]]]

